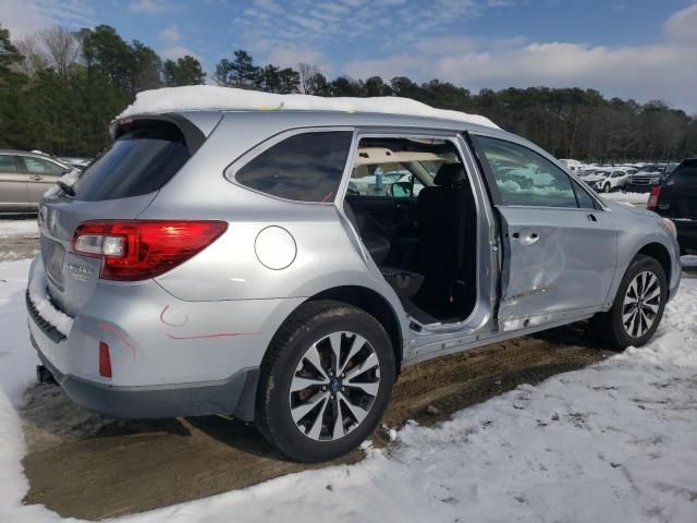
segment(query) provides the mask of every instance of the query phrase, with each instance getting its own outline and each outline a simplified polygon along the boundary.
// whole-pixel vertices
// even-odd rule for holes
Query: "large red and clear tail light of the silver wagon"
[[[186,262],[227,229],[225,221],[86,221],[75,230],[71,251],[102,258],[105,280],[146,280]]]

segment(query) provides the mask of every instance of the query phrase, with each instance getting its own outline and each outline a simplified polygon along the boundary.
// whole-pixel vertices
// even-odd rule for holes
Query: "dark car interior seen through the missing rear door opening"
[[[452,142],[362,139],[343,208],[409,316],[425,325],[469,316],[477,214]]]

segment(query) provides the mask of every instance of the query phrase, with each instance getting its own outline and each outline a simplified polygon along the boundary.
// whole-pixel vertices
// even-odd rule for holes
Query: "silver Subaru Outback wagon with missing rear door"
[[[680,283],[672,222],[499,129],[182,110],[111,131],[44,199],[26,300],[40,373],[110,416],[232,414],[328,460],[403,365],[589,318],[641,345]]]

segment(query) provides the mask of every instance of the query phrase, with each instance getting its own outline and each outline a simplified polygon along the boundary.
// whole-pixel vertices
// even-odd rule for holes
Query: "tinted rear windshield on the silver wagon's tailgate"
[[[126,198],[159,191],[188,160],[180,129],[169,122],[136,121],[80,177],[75,199]]]

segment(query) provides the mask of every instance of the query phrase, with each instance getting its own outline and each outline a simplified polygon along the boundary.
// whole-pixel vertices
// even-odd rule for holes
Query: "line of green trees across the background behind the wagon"
[[[587,161],[669,160],[697,156],[697,119],[660,100],[606,98],[580,88],[481,89],[406,76],[327,78],[311,64],[257,65],[245,50],[217,64],[221,86],[318,96],[402,96],[441,109],[484,114],[559,158]],[[0,26],[0,147],[95,156],[109,145],[108,125],[136,93],[206,83],[191,56],[162,60],[108,25],[53,27],[12,41]]]

